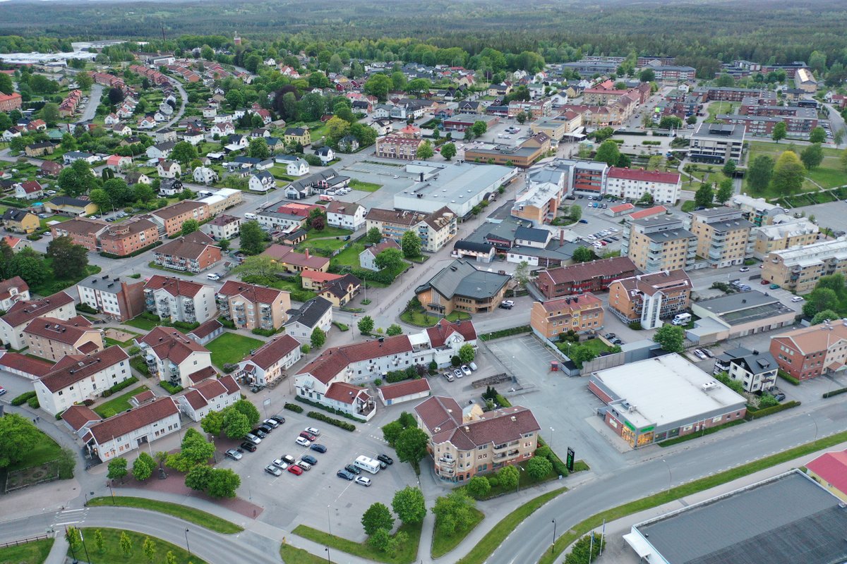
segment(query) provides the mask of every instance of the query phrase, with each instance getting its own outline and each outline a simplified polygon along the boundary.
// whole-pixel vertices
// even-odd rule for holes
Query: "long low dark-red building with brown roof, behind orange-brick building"
[[[633,261],[626,256],[616,256],[540,271],[535,285],[546,298],[552,299],[575,293],[603,292],[618,278],[634,275]]]

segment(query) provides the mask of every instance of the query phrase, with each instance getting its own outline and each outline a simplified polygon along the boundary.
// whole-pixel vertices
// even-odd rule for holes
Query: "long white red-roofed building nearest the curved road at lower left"
[[[94,413],[94,412],[91,412]],[[123,456],[182,428],[172,397],[160,397],[124,413],[98,421],[82,435],[86,449],[102,462]]]

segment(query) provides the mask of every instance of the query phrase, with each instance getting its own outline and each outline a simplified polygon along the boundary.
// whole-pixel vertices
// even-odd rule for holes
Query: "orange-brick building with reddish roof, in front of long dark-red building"
[[[533,302],[529,326],[551,340],[567,331],[598,331],[603,326],[603,303],[590,292]]]

